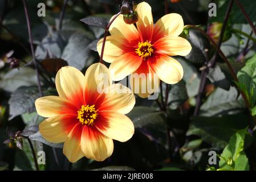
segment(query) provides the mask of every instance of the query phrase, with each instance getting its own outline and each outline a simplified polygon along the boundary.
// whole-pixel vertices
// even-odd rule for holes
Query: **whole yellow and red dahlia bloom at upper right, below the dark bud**
[[[188,40],[179,37],[184,28],[184,22],[179,14],[171,13],[162,16],[153,24],[151,6],[146,2],[139,3],[136,8],[139,20],[136,26],[126,24],[123,15],[119,15],[109,28],[111,36],[107,37],[103,60],[111,63],[109,70],[113,80],[119,81],[130,74],[144,73],[146,77],[131,77],[133,85],[139,82],[140,90],[152,82],[153,90],[158,90],[159,84],[154,85],[153,76],[167,84],[176,84],[183,77],[180,63],[170,56],[186,56],[191,51]],[[103,39],[97,44],[101,53]],[[158,81],[159,82],[159,81]],[[136,93],[140,97],[148,97],[147,93]]]

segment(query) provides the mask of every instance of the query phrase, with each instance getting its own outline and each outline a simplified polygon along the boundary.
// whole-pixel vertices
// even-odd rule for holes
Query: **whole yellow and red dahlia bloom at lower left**
[[[103,161],[113,152],[112,139],[125,142],[132,137],[133,123],[124,114],[132,110],[135,97],[127,87],[111,84],[105,65],[91,65],[85,76],[63,67],[55,82],[59,96],[35,101],[38,114],[47,118],[39,131],[50,142],[64,142],[63,154],[70,162],[83,156]]]

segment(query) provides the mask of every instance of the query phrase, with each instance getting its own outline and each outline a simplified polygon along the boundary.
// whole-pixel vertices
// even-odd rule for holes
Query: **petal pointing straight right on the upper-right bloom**
[[[192,47],[188,40],[179,36],[166,36],[154,43],[156,52],[169,56],[186,56]]]

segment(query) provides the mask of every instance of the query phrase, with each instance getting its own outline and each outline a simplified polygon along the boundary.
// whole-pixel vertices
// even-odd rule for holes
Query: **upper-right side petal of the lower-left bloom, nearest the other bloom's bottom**
[[[132,90],[122,84],[113,84],[103,91],[104,101],[99,110],[112,110],[117,113],[127,114],[135,105],[135,96]]]

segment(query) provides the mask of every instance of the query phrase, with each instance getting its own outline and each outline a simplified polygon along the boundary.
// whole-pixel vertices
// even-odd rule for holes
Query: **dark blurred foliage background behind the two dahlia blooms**
[[[37,6],[42,2],[46,5],[46,16],[39,17]],[[156,22],[164,15],[165,1],[147,2],[152,7]],[[210,2],[218,5],[216,17],[208,16]],[[119,0],[69,0],[60,28],[63,1],[27,1],[44,96],[57,94],[54,77],[59,68],[71,65],[84,72],[92,63],[99,61],[95,47],[104,29],[88,26],[79,20],[87,16],[109,20],[119,12],[120,3]],[[209,33],[213,22],[224,21],[228,3],[224,0],[168,1],[168,10],[169,13],[181,14],[184,24],[200,25]],[[246,0],[242,4],[255,22],[256,1]],[[166,85],[163,84],[159,100],[169,97],[167,110],[161,111],[154,100],[136,97],[136,106],[128,114],[136,128],[132,139],[125,143],[115,141],[113,155],[104,162],[82,158],[71,166],[62,154],[63,145],[48,143],[38,133],[38,124],[44,118],[35,112],[34,102],[39,94],[22,1],[0,1],[0,24],[0,170],[35,170],[30,141],[35,154],[41,150],[46,152],[46,165],[39,165],[40,170],[205,170],[209,168],[209,151],[214,150],[221,155],[218,160],[223,167],[230,164],[227,160],[234,156],[233,149],[237,146],[241,150],[235,151],[237,157],[230,160],[239,165],[227,166],[240,170],[256,169],[254,127],[250,127],[249,133],[242,130],[249,126],[248,123],[254,126],[254,118],[246,110],[238,92],[239,84],[235,84],[219,56],[206,76],[200,111],[193,114],[201,71],[216,50],[200,32],[189,31],[187,39],[192,44],[192,52],[186,57],[176,57],[184,68],[182,81],[169,85],[169,93],[166,94]],[[220,31],[216,28],[215,33]],[[243,84],[239,88],[247,92],[253,108],[256,101],[255,42],[239,31],[251,38],[256,37],[234,3],[226,28],[227,38],[221,49],[238,72],[239,81]],[[221,168],[218,165],[212,167],[209,169]]]

